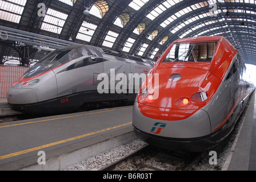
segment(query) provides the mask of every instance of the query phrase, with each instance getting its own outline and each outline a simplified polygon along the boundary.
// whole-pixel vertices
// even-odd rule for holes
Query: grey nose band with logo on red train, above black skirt
[[[147,106],[150,107],[150,106]],[[153,109],[151,108],[152,112]],[[165,125],[162,130],[158,130],[159,124]],[[205,110],[197,110],[188,118],[170,121],[163,118],[151,118],[143,115],[139,108],[139,103],[134,102],[133,107],[133,125],[145,132],[158,137],[169,138],[197,138],[211,134],[210,118]],[[159,125],[159,126],[158,126]]]

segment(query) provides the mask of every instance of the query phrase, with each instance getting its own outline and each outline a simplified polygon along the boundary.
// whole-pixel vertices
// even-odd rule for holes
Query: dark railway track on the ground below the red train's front
[[[100,171],[190,171],[203,153],[174,152],[147,145]]]

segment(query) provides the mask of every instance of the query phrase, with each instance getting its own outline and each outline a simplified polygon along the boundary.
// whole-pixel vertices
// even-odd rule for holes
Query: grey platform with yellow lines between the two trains
[[[60,170],[129,143],[137,139],[132,110],[113,107],[0,123],[0,171]],[[38,164],[44,156],[46,164]]]

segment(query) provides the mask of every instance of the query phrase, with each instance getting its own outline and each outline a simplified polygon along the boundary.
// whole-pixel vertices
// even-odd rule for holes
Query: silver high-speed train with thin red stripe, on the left
[[[10,87],[7,102],[13,110],[34,114],[74,110],[89,102],[132,101],[143,82],[141,75],[146,77],[153,65],[99,47],[59,48]],[[134,75],[141,81],[134,81]]]

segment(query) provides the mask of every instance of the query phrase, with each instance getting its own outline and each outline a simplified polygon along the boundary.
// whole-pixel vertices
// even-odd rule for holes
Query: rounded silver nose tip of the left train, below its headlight
[[[10,88],[7,92],[7,102],[9,104],[32,104],[37,102],[37,95],[34,89]]]

